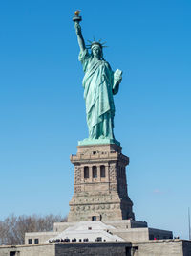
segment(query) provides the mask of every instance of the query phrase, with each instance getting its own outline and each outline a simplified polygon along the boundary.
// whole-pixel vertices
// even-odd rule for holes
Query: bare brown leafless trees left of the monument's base
[[[43,232],[53,230],[54,222],[66,222],[67,217],[60,215],[14,216],[0,221],[0,245],[24,244],[26,232]]]

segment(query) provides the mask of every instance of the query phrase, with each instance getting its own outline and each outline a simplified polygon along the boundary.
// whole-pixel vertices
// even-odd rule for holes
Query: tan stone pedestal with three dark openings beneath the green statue
[[[125,167],[129,158],[116,144],[78,146],[74,164],[74,196],[68,221],[134,220]]]

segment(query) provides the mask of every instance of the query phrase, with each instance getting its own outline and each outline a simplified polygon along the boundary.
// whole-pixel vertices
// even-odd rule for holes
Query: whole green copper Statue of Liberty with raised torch
[[[112,71],[103,58],[103,44],[94,40],[86,46],[82,36],[79,12],[75,12],[74,26],[80,48],[79,61],[85,73],[82,85],[86,104],[86,119],[89,138],[79,145],[117,143],[114,136],[115,105],[113,95],[117,94],[122,72]],[[89,53],[88,49],[91,50]]]

